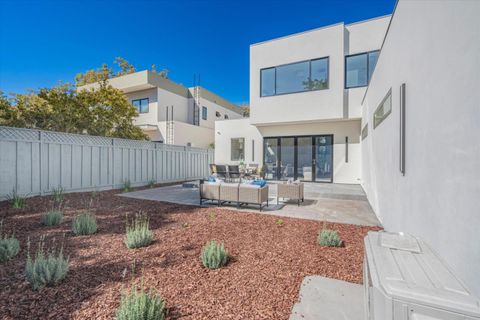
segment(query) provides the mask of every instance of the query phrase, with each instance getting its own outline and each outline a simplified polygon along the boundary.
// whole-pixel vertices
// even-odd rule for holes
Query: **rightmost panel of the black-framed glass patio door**
[[[332,136],[315,137],[315,181],[332,182]]]

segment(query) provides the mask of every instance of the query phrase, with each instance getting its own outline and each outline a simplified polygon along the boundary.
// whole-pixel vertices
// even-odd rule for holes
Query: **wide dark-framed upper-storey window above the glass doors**
[[[328,89],[328,58],[260,70],[260,96]]]

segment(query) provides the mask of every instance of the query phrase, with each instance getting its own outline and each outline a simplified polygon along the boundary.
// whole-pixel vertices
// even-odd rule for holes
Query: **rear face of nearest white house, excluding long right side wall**
[[[218,163],[266,178],[360,183],[362,98],[390,16],[250,46],[250,118],[216,124]]]

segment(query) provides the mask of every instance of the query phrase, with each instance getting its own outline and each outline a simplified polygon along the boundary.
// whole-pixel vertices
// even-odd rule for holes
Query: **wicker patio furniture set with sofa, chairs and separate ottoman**
[[[204,201],[216,201],[218,206],[224,203],[235,203],[237,208],[242,205],[258,205],[260,211],[268,207],[269,189],[266,181],[261,179],[262,170],[253,168],[250,172],[240,170],[239,166],[210,165],[212,176],[207,180],[200,180],[200,205]],[[277,191],[279,198],[296,200],[298,206],[304,201],[304,185],[297,183],[280,183]]]

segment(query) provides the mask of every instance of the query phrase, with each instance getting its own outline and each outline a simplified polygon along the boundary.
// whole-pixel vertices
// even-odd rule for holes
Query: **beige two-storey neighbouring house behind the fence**
[[[215,140],[216,120],[242,118],[242,109],[202,88],[186,88],[145,70],[112,78],[108,83],[122,90],[137,108],[135,124],[150,140],[192,147],[209,147]],[[97,83],[78,90],[98,86]]]

